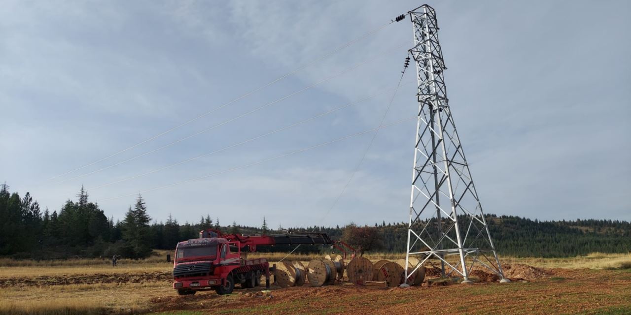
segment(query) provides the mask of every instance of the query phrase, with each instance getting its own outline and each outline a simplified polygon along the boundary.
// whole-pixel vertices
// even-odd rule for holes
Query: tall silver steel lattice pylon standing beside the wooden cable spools
[[[418,123],[406,260],[416,256],[416,268],[440,262],[444,274],[464,280],[474,265],[504,278],[449,108],[435,11],[425,4],[410,17]]]

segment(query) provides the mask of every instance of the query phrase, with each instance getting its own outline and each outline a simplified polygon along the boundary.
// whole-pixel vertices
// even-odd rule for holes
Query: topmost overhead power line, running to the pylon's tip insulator
[[[213,108],[212,110],[209,110],[208,112],[203,113],[203,114],[199,115],[198,117],[194,117],[194,118],[192,118],[190,120],[187,120],[186,122],[180,123],[179,125],[176,125],[175,127],[167,129],[167,130],[161,132],[160,134],[156,134],[153,137],[150,137],[149,139],[146,139],[146,140],[143,140],[141,142],[138,142],[137,144],[134,144],[133,146],[127,147],[126,149],[122,149],[121,151],[118,151],[118,152],[115,152],[113,154],[110,154],[109,156],[102,157],[101,159],[98,159],[97,161],[93,161],[91,163],[88,163],[88,164],[85,164],[83,166],[80,166],[79,168],[72,169],[70,171],[67,171],[66,173],[62,173],[60,175],[53,176],[53,177],[49,178],[48,180],[54,180],[54,179],[59,178],[61,176],[73,173],[74,171],[78,171],[80,169],[87,168],[88,166],[92,166],[92,165],[97,164],[99,162],[105,161],[106,159],[109,159],[110,157],[114,157],[114,156],[117,156],[117,155],[119,155],[119,154],[121,154],[123,152],[126,152],[126,151],[129,151],[131,149],[134,149],[135,147],[141,146],[142,144],[145,144],[146,142],[150,142],[151,140],[157,139],[158,137],[162,137],[163,135],[168,134],[169,132],[172,132],[172,131],[174,131],[176,129],[184,127],[184,126],[188,125],[189,123],[195,122],[196,120],[198,120],[200,118],[206,117],[206,116],[210,115],[211,113],[216,112],[217,110],[220,110],[221,108],[224,108],[225,106],[228,106],[228,105],[230,105],[232,103],[235,103],[236,101],[242,100],[243,98],[245,98],[245,97],[247,97],[249,95],[252,95],[252,94],[256,93],[257,91],[261,91],[261,89],[267,88],[268,86],[271,86],[272,84],[274,84],[274,83],[276,83],[278,81],[281,81],[282,79],[285,79],[285,77],[291,76],[292,74],[295,74],[296,72],[298,72],[298,71],[300,71],[302,69],[305,69],[305,67],[309,67],[310,65],[315,64],[315,62],[319,62],[320,60],[322,60],[322,59],[324,59],[326,57],[329,57],[330,55],[333,55],[336,52],[339,52],[340,50],[343,50],[346,47],[349,47],[350,45],[353,45],[353,43],[356,43],[356,42],[362,40],[363,38],[369,37],[370,35],[373,35],[374,33],[377,33],[378,31],[383,30],[384,28],[386,28],[386,26],[388,26],[390,24],[392,24],[392,22],[384,24],[384,25],[381,25],[381,26],[375,28],[374,30],[371,30],[371,31],[363,34],[362,36],[357,37],[357,38],[351,40],[350,42],[347,42],[344,45],[339,46],[338,48],[336,48],[334,50],[331,50],[331,52],[327,52],[326,54],[322,55],[321,57],[318,57],[318,58],[316,58],[316,59],[314,59],[314,60],[312,60],[310,62],[307,62],[307,64],[304,64],[304,65],[298,67],[297,69],[295,69],[295,70],[293,70],[291,72],[287,72],[286,74],[283,74],[283,76],[280,76],[280,77],[274,79],[273,81],[269,81],[269,83],[263,84],[262,86],[259,86],[259,88],[253,89],[252,91],[249,91],[249,92],[245,93],[244,95],[241,95],[241,96],[233,99],[232,101],[228,101],[227,103],[224,103],[223,105],[220,105],[220,106],[218,106],[216,108]]]

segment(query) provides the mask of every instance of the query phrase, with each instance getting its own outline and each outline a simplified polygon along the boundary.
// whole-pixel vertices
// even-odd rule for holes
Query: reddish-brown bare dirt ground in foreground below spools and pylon
[[[382,288],[333,285],[198,292],[150,300],[166,314],[631,314],[631,272],[505,266],[510,284],[474,272],[473,285]],[[437,271],[437,270],[436,270]],[[430,280],[430,279],[428,279]],[[199,312],[179,313],[180,310]]]

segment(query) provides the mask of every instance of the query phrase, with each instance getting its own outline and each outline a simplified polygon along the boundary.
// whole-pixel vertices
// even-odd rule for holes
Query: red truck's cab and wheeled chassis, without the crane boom
[[[189,239],[175,248],[173,289],[179,295],[213,289],[218,294],[230,294],[235,283],[245,288],[258,285],[266,268],[269,264],[265,260],[243,260],[238,241]]]

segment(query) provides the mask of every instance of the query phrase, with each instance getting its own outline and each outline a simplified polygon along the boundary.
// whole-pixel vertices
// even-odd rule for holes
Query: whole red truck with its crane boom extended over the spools
[[[248,260],[247,253],[257,245],[334,244],[328,234],[275,234],[243,236],[222,234],[215,229],[199,232],[198,239],[177,243],[173,265],[173,289],[179,295],[195,294],[201,290],[215,290],[230,294],[235,284],[242,288],[260,285],[265,275],[269,288],[269,263],[264,258]]]

